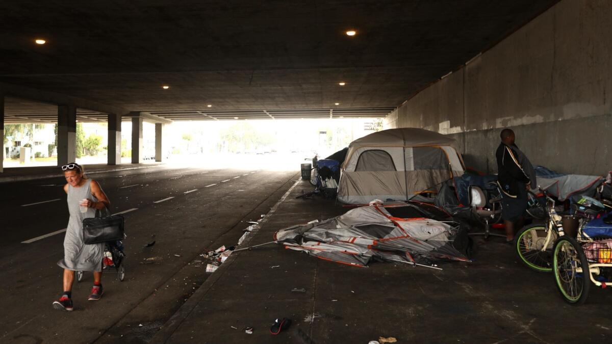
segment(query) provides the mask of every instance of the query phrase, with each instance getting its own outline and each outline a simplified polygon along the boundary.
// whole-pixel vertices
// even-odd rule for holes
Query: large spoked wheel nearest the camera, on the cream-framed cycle
[[[582,272],[577,272],[578,269]],[[584,304],[591,290],[591,272],[584,250],[572,237],[562,236],[554,242],[553,274],[566,302]]]

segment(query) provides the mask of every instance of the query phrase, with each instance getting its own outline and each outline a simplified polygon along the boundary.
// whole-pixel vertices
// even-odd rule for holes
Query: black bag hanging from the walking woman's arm
[[[95,209],[95,217],[83,219],[83,242],[87,245],[122,240],[125,235],[123,215],[111,215],[108,208]]]

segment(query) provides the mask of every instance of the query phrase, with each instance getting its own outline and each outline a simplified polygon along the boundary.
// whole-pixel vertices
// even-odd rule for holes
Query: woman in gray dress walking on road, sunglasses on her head
[[[64,191],[68,194],[68,211],[70,220],[64,237],[64,259],[58,265],[64,268],[64,293],[53,308],[72,310],[72,283],[75,271],[94,273],[94,286],[89,300],[99,300],[104,293],[102,289],[102,258],[104,243],[86,245],[83,242],[83,219],[95,217],[96,209],[110,206],[110,201],[100,185],[85,176],[83,167],[78,163],[62,166],[67,184]]]

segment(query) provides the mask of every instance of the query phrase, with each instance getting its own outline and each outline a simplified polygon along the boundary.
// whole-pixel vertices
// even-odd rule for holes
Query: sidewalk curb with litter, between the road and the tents
[[[274,209],[275,211],[275,209],[277,209],[278,206],[281,203],[283,203],[283,201],[286,200],[288,195],[293,191],[293,189],[295,189],[295,187],[299,184],[300,181],[302,181],[302,179],[298,178],[293,183],[293,185],[289,187],[289,189],[283,194],[283,196],[281,196],[281,198],[278,199],[277,203],[275,203],[274,206],[272,206],[271,212],[273,212],[272,209]],[[266,214],[266,216],[264,216],[264,219],[259,223],[259,226],[267,222],[267,220],[268,220],[268,215]],[[253,231],[252,235],[247,236],[247,238],[245,239],[242,245],[244,247],[248,247],[248,245],[250,244],[251,241],[253,241],[253,238],[258,234],[258,232],[259,230]],[[202,301],[202,299],[204,298],[204,296],[206,296],[208,291],[211,290],[212,286],[214,286],[215,283],[217,283],[217,281],[223,275],[225,275],[225,273],[232,266],[232,264],[234,264],[237,257],[240,256],[241,253],[230,255],[225,261],[225,263],[221,264],[221,266],[219,266],[218,269],[210,277],[208,277],[206,281],[204,281],[204,283],[202,283],[202,285],[198,288],[198,290],[196,290],[195,293],[193,293],[187,299],[187,301],[185,301],[185,303],[181,305],[181,308],[179,308],[176,311],[176,313],[174,313],[174,315],[171,316],[170,319],[166,321],[165,324],[163,324],[163,326],[160,328],[157,334],[155,334],[154,337],[151,338],[151,340],[149,341],[149,344],[164,344],[168,342],[168,339],[172,337],[174,332],[179,328],[179,326],[181,326],[183,321],[187,319],[187,317],[190,315],[193,309],[197,307],[198,304],[200,304],[200,301]]]

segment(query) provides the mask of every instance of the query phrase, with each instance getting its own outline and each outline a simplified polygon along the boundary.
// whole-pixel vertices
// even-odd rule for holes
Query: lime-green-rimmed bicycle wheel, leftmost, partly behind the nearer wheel
[[[553,230],[550,235],[551,239],[547,247],[545,250],[542,250],[548,236],[545,226],[530,225],[518,231],[514,240],[515,251],[520,261],[529,267],[529,269],[539,272],[551,271],[551,255],[558,234]]]

